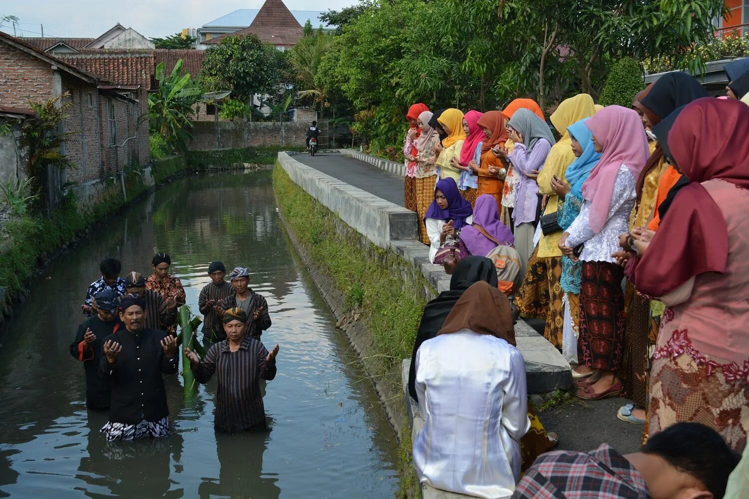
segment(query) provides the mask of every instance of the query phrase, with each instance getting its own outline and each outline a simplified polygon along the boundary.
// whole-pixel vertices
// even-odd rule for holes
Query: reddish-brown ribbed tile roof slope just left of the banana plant
[[[59,55],[59,59],[93,73],[115,85],[140,85],[151,88],[154,58],[150,52],[97,52]]]

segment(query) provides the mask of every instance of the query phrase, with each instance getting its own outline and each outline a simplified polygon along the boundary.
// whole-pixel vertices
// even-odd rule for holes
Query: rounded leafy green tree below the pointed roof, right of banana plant
[[[200,73],[207,91],[230,90],[232,97],[252,102],[255,94],[276,90],[283,55],[264,45],[254,34],[225,37],[218,46],[206,50]]]

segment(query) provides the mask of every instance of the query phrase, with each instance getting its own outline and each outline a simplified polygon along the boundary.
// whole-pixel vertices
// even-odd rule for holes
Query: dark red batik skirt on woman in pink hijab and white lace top
[[[593,369],[618,371],[624,358],[624,269],[616,263],[583,262],[577,360]]]

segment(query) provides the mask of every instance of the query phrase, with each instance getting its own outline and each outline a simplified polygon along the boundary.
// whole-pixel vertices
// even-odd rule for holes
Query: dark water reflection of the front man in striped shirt
[[[219,480],[204,478],[198,486],[201,499],[215,497],[278,499],[278,478],[263,475],[263,453],[270,441],[270,431],[227,435],[216,432],[219,456]]]

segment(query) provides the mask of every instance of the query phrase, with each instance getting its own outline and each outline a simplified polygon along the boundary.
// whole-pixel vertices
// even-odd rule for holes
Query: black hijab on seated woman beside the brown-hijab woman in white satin
[[[440,296],[424,307],[419,331],[416,332],[416,342],[413,344],[411,367],[408,371],[408,393],[414,400],[416,400],[416,352],[419,346],[426,340],[437,336],[437,331],[440,331],[444,325],[445,319],[458,299],[471,285],[479,281],[485,281],[491,287],[497,287],[497,270],[494,269],[494,263],[486,257],[465,257],[452,273],[450,289],[440,293]]]

